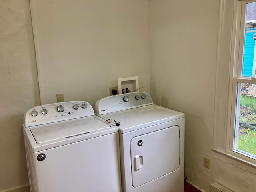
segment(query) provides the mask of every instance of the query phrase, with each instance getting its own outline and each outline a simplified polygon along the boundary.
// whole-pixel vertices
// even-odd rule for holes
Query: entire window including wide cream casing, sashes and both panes
[[[220,1],[213,148],[256,167],[256,0]]]

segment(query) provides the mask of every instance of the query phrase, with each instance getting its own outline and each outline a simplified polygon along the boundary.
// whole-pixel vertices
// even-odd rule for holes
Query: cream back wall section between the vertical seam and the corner
[[[150,92],[148,1],[30,4],[42,104],[64,93],[94,105],[133,76]]]

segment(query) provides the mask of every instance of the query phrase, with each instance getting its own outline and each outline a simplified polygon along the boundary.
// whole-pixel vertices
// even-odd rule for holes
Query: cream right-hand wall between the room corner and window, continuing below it
[[[256,191],[255,168],[211,150],[219,3],[150,1],[151,96],[156,104],[185,113],[188,180],[204,191],[212,182],[237,192]],[[210,169],[203,166],[204,156]]]

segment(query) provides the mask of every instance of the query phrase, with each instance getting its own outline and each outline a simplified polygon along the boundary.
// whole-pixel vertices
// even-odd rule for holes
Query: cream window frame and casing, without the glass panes
[[[233,150],[238,82],[256,83],[255,78],[242,77],[246,4],[250,2],[255,0],[220,1],[212,150],[255,168],[254,158]]]

